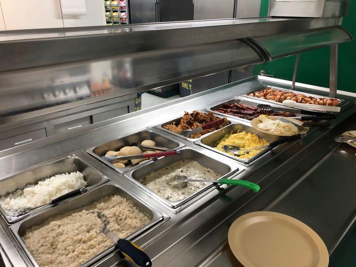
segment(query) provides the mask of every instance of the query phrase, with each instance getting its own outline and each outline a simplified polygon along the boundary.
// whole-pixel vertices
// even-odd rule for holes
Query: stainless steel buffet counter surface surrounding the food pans
[[[262,85],[285,89],[290,87],[283,80],[251,77],[70,133],[23,144],[0,152],[0,178],[5,179],[63,157],[77,155],[108,177],[109,184],[120,186],[139,202],[152,206],[155,214],[161,215],[160,221],[156,221],[134,239],[153,259],[154,266],[239,266],[226,243],[228,228],[239,216],[260,210],[285,213],[305,222],[320,235],[332,253],[355,220],[356,199],[352,188],[356,186],[356,181],[352,177],[354,178],[356,170],[356,151],[347,144],[333,141],[335,135],[356,129],[353,97],[338,95],[338,98],[345,100],[345,104],[332,127],[311,128],[302,143],[294,141],[279,145],[251,163],[233,160],[195,142],[153,128],[182,116],[185,110],[209,109],[219,101],[228,101]],[[327,92],[315,86],[299,85],[296,90],[327,96]],[[249,124],[232,117],[229,120],[245,126]],[[111,168],[86,152],[91,147],[143,130],[157,132],[182,144],[183,150],[193,150],[225,163],[235,169],[229,173],[232,179],[258,183],[261,191],[254,194],[242,187],[209,187],[176,208],[137,186],[132,173]],[[159,161],[160,159],[157,160]],[[153,164],[143,165],[144,168],[149,166]],[[85,194],[97,189],[98,187],[92,188]],[[50,214],[52,209],[58,210],[61,205],[69,205],[70,201],[67,200],[59,207],[46,207],[42,212]],[[36,214],[41,213],[31,216],[35,217]],[[31,221],[32,218],[27,217],[26,220]],[[21,224],[21,221],[18,223]],[[14,228],[5,219],[1,220],[0,243],[3,252],[14,266],[32,265],[31,258],[26,256],[16,240],[18,233],[11,230]],[[110,252],[95,263],[99,266],[115,264],[128,266],[130,263],[121,260],[117,252]]]

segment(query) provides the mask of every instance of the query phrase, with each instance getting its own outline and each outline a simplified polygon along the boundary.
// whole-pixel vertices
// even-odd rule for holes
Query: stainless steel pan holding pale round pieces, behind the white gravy
[[[142,142],[145,139],[151,139],[156,142],[157,146],[160,147],[167,147],[168,149],[177,149],[179,147],[184,146],[183,143],[179,141],[172,140],[158,132],[155,132],[152,129],[147,129],[143,130],[141,132],[137,132],[134,134],[130,134],[125,137],[118,138],[116,140],[103,143],[94,147],[91,147],[90,149],[87,149],[86,152],[89,153],[90,155],[94,156],[104,164],[110,166],[111,168],[115,169],[116,171],[120,173],[125,173],[127,171],[136,169],[138,167],[141,167],[153,160],[149,160],[145,163],[142,164],[137,164],[136,166],[129,165],[126,168],[117,168],[114,165],[112,165],[110,162],[104,160],[102,156],[106,154],[108,151],[119,151],[123,146],[130,146],[132,142]]]

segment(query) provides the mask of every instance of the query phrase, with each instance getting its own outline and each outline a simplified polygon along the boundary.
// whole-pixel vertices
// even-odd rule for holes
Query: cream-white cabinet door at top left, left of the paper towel
[[[0,0],[0,4],[7,30],[63,27],[60,0]]]

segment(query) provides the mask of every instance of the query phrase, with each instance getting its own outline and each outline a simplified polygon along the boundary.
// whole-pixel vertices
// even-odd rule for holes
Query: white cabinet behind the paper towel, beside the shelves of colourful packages
[[[103,0],[85,0],[85,6],[85,15],[63,15],[64,26],[85,27],[106,25]]]

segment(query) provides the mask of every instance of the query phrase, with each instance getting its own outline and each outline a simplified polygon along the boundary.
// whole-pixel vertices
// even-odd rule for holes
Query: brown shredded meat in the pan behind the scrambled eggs
[[[183,132],[184,130],[195,129],[195,128],[201,127],[205,124],[215,122],[217,120],[220,120],[220,118],[215,116],[213,112],[203,113],[203,112],[198,112],[197,110],[194,110],[193,113],[189,114],[189,112],[185,111],[184,115],[181,118],[178,125],[176,125],[175,123],[167,124],[167,125],[163,126],[163,128],[168,131],[171,131],[173,133],[179,134],[179,133]],[[219,126],[216,126],[216,127],[210,128],[210,129],[206,129],[206,130],[200,131],[195,134],[191,134],[189,137],[190,138],[199,138],[204,134],[207,134],[207,133],[213,132],[215,130],[218,130],[220,128],[223,128],[224,126],[226,126],[228,124],[229,124],[229,122],[227,121],[226,118],[224,118],[224,122],[222,124],[220,124]]]

